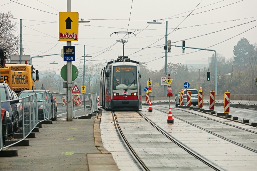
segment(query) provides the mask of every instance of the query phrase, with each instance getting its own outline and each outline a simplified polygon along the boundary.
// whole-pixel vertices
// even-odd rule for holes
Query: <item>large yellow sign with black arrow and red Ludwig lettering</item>
[[[59,13],[59,41],[78,41],[78,12]]]

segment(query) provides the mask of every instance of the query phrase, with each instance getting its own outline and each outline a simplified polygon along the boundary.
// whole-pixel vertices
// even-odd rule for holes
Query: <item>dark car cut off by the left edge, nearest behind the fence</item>
[[[10,86],[4,82],[0,85],[1,91],[1,108],[6,109],[6,118],[8,124],[8,136],[13,136],[13,133],[19,130],[19,113],[17,111],[16,103],[19,103],[19,100],[15,100],[14,95],[11,91]],[[12,100],[12,101],[8,101]],[[7,101],[7,102],[5,102]]]

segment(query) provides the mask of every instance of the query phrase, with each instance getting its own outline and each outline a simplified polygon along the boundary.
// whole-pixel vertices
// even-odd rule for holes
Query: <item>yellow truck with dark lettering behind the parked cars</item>
[[[27,62],[26,62],[27,63]],[[35,89],[38,81],[38,70],[29,64],[5,64],[1,66],[1,82],[9,84],[11,89],[19,94],[23,90]]]

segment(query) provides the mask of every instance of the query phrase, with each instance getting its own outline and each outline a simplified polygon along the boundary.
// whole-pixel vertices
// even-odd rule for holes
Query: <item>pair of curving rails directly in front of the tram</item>
[[[182,142],[180,142],[179,140],[177,140],[176,138],[174,138],[173,136],[171,136],[169,133],[167,133],[166,131],[164,131],[162,128],[160,128],[159,126],[157,126],[155,123],[153,123],[149,118],[147,118],[145,115],[143,115],[142,113],[140,113],[139,111],[135,111],[137,114],[139,114],[143,119],[145,119],[145,121],[147,121],[151,126],[153,126],[157,131],[159,131],[160,133],[162,133],[162,135],[164,135],[166,138],[168,138],[169,140],[171,140],[173,143],[175,143],[177,146],[179,146],[180,148],[182,148],[183,150],[185,150],[187,153],[189,153],[190,155],[194,156],[196,159],[200,160],[201,162],[203,162],[204,164],[206,164],[207,166],[211,167],[214,170],[223,170],[221,167],[219,167],[218,165],[216,165],[215,163],[211,162],[210,160],[206,159],[205,157],[203,157],[202,155],[200,155],[199,153],[197,153],[196,151],[192,150],[191,148],[189,148],[187,145],[183,144]],[[113,117],[113,121],[114,121],[114,125],[116,126],[116,131],[119,131],[119,134],[121,135],[122,139],[124,140],[124,142],[126,143],[127,147],[130,150],[130,153],[136,158],[137,162],[142,166],[143,169],[145,170],[149,170],[147,168],[147,166],[145,165],[145,163],[140,159],[140,157],[136,154],[136,152],[133,150],[132,146],[130,145],[130,143],[127,141],[125,135],[122,133],[122,130],[119,126],[119,123],[117,121],[117,116],[115,114],[115,112],[112,111],[112,117]],[[118,133],[118,132],[117,132]]]

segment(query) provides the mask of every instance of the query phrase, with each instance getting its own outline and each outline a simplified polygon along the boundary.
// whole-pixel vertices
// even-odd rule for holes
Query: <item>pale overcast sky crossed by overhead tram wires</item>
[[[1,12],[11,11],[14,15],[15,19],[11,19],[11,21],[17,23],[17,36],[19,35],[19,19],[22,19],[23,55],[36,56],[61,53],[61,49],[66,45],[66,42],[58,42],[58,14],[60,11],[66,11],[66,1],[16,1],[19,4],[10,2],[10,0],[1,0],[0,8]],[[195,7],[196,9],[188,16]],[[223,54],[226,58],[231,58],[233,57],[233,47],[240,38],[245,37],[252,44],[257,42],[257,27],[253,28],[257,26],[257,21],[254,21],[257,20],[256,7],[256,0],[134,0],[133,3],[132,0],[72,0],[71,11],[78,12],[79,18],[83,18],[84,21],[90,21],[90,23],[80,23],[78,41],[72,42],[72,45],[77,44],[75,45],[75,62],[73,62],[73,65],[83,66],[83,63],[80,64],[80,61],[83,62],[80,60],[83,59],[81,57],[83,55],[83,45],[86,45],[86,54],[94,57],[92,60],[103,60],[92,61],[94,63],[105,62],[104,60],[110,61],[116,59],[118,55],[122,55],[122,44],[116,43],[118,36],[115,34],[110,36],[110,34],[117,31],[127,31],[127,28],[128,31],[134,32],[137,36],[128,39],[125,44],[125,56],[129,55],[132,60],[140,62],[148,62],[162,57],[164,56],[162,44],[165,41],[164,23],[166,21],[168,21],[168,33],[171,33],[174,28],[179,28],[169,34],[168,39],[171,42],[179,41],[177,45],[180,46],[182,46],[180,40],[188,38],[192,39],[186,40],[186,46],[196,48],[207,48],[231,38],[209,48]],[[186,18],[186,16],[188,17]],[[128,21],[129,18],[130,21]],[[162,24],[148,26],[147,22],[151,20],[158,20]],[[247,23],[249,21],[253,22]],[[237,26],[243,23],[247,24]],[[219,31],[233,26],[236,27]],[[250,28],[253,29],[247,31]],[[143,31],[140,32],[140,30]],[[215,31],[219,32],[204,35]],[[244,31],[246,32],[242,33]],[[200,35],[204,36],[193,38]],[[122,36],[119,35],[119,37]],[[113,47],[108,48],[114,43],[116,44]],[[156,48],[154,47],[156,45],[162,46]],[[175,44],[172,43],[172,45]],[[141,50],[142,48],[145,49]],[[106,52],[102,53],[104,51]],[[196,50],[186,49],[186,54],[182,55],[182,48],[172,47],[171,53],[168,53],[168,62],[183,64],[186,60],[201,60],[203,58],[208,60],[208,57],[213,54],[210,51],[190,53],[194,51]],[[49,64],[53,61],[58,62],[58,64]],[[63,61],[61,55],[33,58],[34,67],[39,70],[43,68],[45,68],[44,70],[58,70],[65,64],[66,62]],[[164,58],[149,62],[147,65],[152,70],[159,70],[164,65]],[[57,73],[59,72],[60,70]]]

